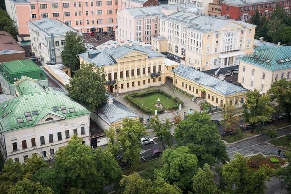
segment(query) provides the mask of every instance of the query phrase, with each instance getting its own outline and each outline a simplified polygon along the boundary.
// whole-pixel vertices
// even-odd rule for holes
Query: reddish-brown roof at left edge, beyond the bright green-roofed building
[[[6,31],[0,31],[0,53],[7,54],[13,52],[24,52],[24,49],[16,42],[16,40]]]

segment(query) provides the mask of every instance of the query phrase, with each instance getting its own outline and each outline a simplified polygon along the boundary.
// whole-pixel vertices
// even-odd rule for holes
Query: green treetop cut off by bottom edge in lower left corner
[[[50,187],[42,186],[39,182],[34,183],[24,178],[11,186],[7,194],[53,194],[53,190]]]

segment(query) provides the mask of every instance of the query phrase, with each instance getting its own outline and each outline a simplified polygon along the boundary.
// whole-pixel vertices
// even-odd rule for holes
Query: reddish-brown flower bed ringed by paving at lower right
[[[285,164],[285,161],[282,158],[277,157],[277,156],[263,156],[261,154],[257,154],[257,155],[251,156],[250,158],[251,158],[251,160],[247,163],[248,166],[250,166],[251,163],[257,163],[257,164],[259,164],[259,166],[262,166],[264,164],[268,164],[270,166],[270,168],[275,168],[276,164],[270,162],[270,158],[279,159],[280,162],[278,164],[280,164],[281,166]],[[249,168],[253,169],[255,171],[259,169],[259,168],[253,168],[253,167],[249,167]]]

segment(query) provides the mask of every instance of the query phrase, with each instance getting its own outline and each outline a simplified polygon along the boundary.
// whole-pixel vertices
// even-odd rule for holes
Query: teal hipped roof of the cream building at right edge
[[[277,47],[238,58],[272,71],[291,67],[291,46]]]

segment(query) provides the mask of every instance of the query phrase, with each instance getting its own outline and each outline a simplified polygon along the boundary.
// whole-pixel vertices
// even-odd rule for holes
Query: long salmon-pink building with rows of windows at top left
[[[80,33],[114,31],[117,0],[5,0],[19,34],[29,34],[28,21],[58,19]]]

